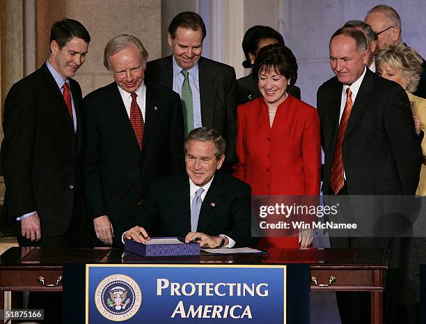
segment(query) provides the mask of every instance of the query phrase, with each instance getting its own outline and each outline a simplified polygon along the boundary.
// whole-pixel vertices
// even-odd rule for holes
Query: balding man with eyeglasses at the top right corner
[[[387,49],[390,45],[402,43],[401,36],[401,18],[400,15],[390,6],[378,5],[368,10],[364,20],[365,24],[369,24],[377,36],[377,48],[374,55],[377,55],[383,49]],[[426,98],[426,63],[423,59],[423,72],[420,75],[414,95]]]

